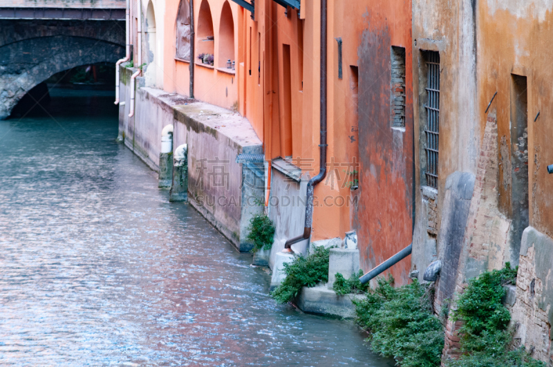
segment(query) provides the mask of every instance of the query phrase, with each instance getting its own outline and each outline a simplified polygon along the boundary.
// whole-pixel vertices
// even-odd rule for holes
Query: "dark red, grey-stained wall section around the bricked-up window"
[[[362,29],[348,24],[346,30],[348,39],[357,35],[359,42],[359,206],[353,223],[362,268],[370,270],[412,240],[411,1],[373,1],[371,8],[346,9],[349,17],[363,14]],[[392,46],[405,52],[404,127],[392,126]],[[408,281],[410,267],[408,259],[391,268],[397,285]]]

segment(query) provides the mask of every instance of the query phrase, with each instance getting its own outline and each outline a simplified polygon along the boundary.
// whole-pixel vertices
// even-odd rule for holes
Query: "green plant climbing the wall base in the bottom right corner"
[[[454,321],[462,321],[459,329],[461,351],[457,360],[447,361],[451,367],[545,367],[523,349],[509,350],[512,330],[511,314],[503,305],[504,285],[516,283],[518,267],[509,263],[502,270],[484,272],[471,279],[452,310]]]

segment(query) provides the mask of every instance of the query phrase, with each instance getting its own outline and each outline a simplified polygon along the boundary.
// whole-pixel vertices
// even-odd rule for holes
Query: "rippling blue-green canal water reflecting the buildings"
[[[393,366],[168,203],[115,142],[113,93],[51,95],[0,121],[1,366]]]

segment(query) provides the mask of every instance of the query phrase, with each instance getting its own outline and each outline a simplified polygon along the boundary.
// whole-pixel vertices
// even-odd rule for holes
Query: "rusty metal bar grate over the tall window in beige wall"
[[[438,188],[438,140],[440,133],[440,54],[427,53],[427,185]]]

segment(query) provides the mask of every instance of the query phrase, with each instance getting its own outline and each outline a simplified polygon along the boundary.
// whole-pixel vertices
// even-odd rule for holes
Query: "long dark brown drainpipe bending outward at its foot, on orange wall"
[[[324,180],[326,176],[326,1],[321,0],[321,144],[319,144],[319,173],[311,178],[307,184],[306,225],[303,234],[290,238],[284,244],[282,252],[294,252],[292,245],[311,236],[313,225],[313,190],[315,185]]]

